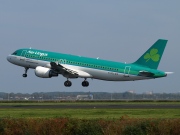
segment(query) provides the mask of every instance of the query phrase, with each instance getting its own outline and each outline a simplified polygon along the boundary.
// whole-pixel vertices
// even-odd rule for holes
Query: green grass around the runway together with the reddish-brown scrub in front
[[[180,109],[100,109],[96,105],[180,102],[0,102],[0,134],[179,135]],[[91,109],[23,108],[29,105],[90,105]],[[3,106],[11,106],[4,109]],[[18,106],[16,108],[15,106]],[[21,108],[22,107],[22,108]]]

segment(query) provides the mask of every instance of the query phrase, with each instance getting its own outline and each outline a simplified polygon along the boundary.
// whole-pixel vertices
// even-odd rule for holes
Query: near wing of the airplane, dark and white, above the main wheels
[[[51,62],[50,65],[51,65],[51,69],[55,70],[56,72],[62,74],[64,77],[67,78],[78,78],[78,77],[92,78],[92,76],[89,73],[82,70],[73,69],[72,67],[68,67],[55,62]]]

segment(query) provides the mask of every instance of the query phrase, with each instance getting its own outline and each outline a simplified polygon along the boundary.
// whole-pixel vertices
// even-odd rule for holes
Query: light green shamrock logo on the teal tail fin
[[[159,57],[160,55],[158,54],[158,49],[151,49],[150,53],[146,53],[144,55],[144,59],[146,60],[146,62],[148,62],[150,59],[154,62],[158,62]]]

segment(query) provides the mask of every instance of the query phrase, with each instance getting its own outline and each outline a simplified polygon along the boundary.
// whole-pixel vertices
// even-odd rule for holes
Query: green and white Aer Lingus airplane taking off
[[[25,68],[23,77],[27,77],[28,69],[35,69],[40,78],[63,75],[67,80],[64,86],[70,87],[72,78],[84,78],[83,87],[88,87],[88,78],[106,81],[135,81],[166,77],[172,72],[157,70],[167,40],[157,40],[134,63],[121,63],[99,58],[87,58],[70,54],[62,54],[36,49],[19,49],[7,56],[7,60]]]

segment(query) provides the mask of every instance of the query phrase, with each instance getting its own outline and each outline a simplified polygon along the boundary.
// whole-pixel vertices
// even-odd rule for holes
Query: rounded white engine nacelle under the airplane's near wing
[[[40,78],[51,78],[58,76],[58,73],[49,68],[38,66],[35,69],[35,75]]]

